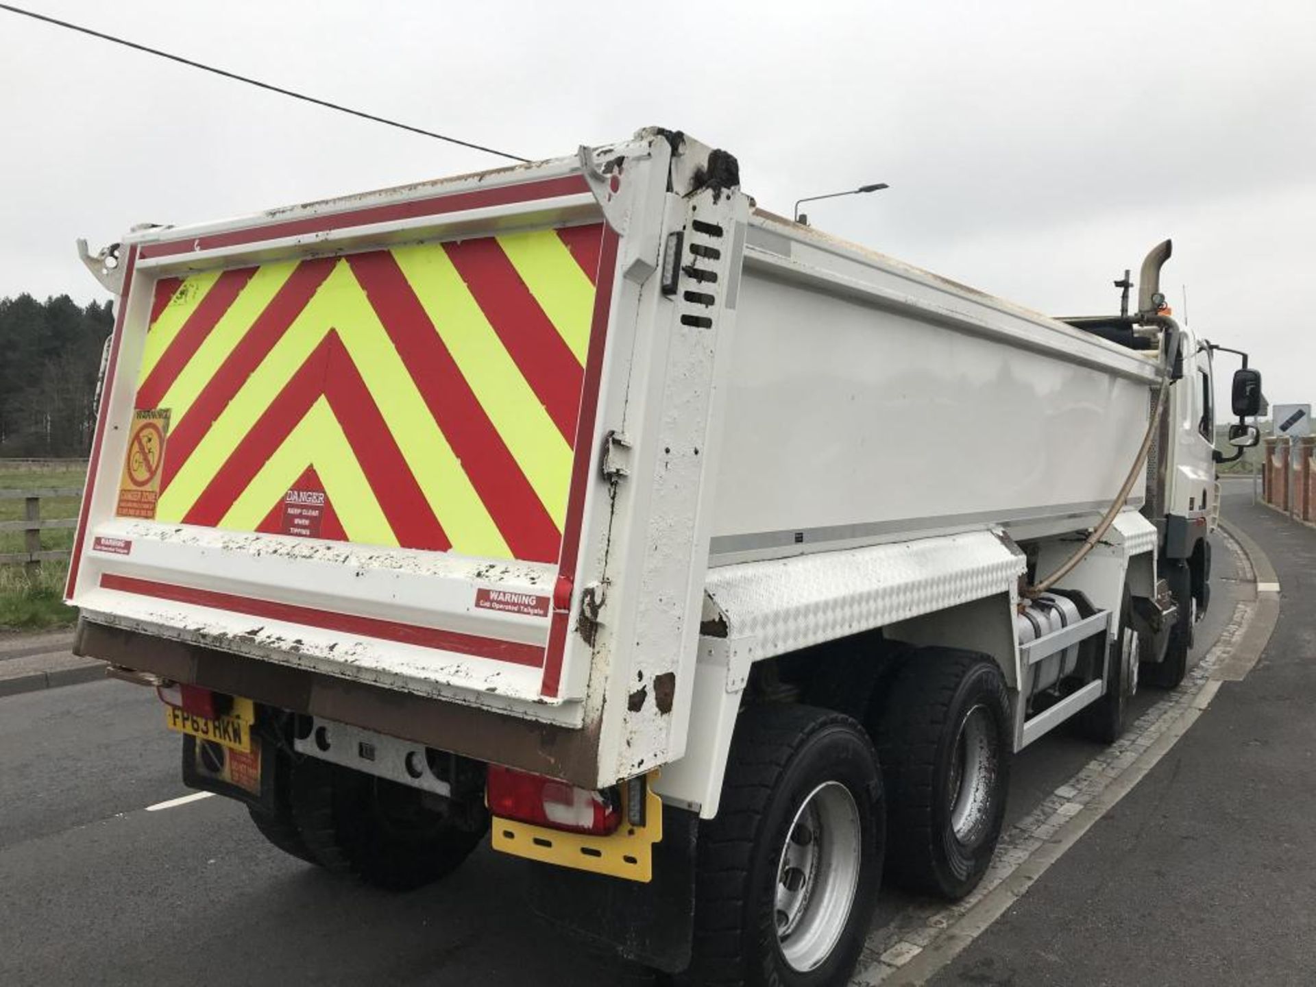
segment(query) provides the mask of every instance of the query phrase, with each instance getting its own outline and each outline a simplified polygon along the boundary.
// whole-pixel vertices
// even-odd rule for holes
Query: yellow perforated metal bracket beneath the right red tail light
[[[609,836],[563,833],[559,829],[537,826],[494,817],[494,849],[513,857],[525,857],[559,867],[587,870],[613,878],[647,884],[653,879],[653,848],[662,840],[662,799],[653,790],[658,776],[650,772],[645,784],[645,824],[622,821]],[[621,804],[626,805],[632,782],[621,784]]]

